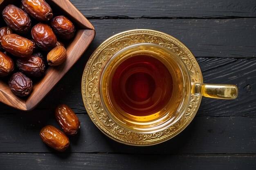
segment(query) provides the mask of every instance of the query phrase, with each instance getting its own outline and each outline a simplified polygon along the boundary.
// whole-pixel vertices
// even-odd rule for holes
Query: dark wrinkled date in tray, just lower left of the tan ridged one
[[[40,57],[33,56],[18,59],[18,68],[27,76],[40,77],[45,73],[45,64]]]

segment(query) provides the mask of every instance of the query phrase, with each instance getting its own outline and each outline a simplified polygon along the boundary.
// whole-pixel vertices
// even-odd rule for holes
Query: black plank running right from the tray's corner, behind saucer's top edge
[[[256,18],[218,20],[90,20],[96,30],[91,47],[129,29],[154,29],[183,42],[196,57],[256,57]],[[108,28],[108,29],[106,29]]]

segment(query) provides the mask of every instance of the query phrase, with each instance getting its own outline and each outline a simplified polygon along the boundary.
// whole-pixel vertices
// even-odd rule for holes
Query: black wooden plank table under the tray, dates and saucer
[[[71,0],[96,29],[89,49],[32,111],[0,104],[0,170],[5,169],[256,169],[255,0]],[[155,29],[181,40],[195,55],[206,83],[236,84],[235,100],[203,98],[191,124],[162,144],[134,147],[103,135],[87,115],[81,76],[106,38],[128,29]],[[39,137],[58,104],[81,121],[64,152]]]

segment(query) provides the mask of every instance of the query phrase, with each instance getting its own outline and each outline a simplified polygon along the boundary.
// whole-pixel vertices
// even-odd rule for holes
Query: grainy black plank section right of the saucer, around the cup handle
[[[236,84],[239,91],[235,100],[203,97],[199,116],[256,116],[256,60],[200,58],[198,62],[205,83]]]

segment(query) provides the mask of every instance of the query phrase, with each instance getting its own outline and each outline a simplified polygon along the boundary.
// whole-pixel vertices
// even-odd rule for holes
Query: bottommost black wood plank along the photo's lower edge
[[[0,154],[4,170],[255,170],[255,160],[256,155]]]

